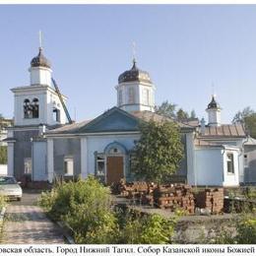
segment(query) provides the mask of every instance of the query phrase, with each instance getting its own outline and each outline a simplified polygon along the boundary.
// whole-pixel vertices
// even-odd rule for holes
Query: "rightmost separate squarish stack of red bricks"
[[[196,207],[207,209],[212,214],[224,211],[224,188],[206,188],[195,195]]]

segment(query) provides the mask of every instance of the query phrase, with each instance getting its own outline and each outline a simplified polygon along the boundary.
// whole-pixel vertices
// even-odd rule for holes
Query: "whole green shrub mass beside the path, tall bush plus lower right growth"
[[[39,204],[55,220],[68,224],[76,243],[170,243],[175,219],[113,211],[110,192],[96,178],[57,184]]]

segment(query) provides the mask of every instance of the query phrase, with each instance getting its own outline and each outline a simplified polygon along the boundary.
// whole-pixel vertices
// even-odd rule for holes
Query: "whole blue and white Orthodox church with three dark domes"
[[[53,86],[42,48],[32,58],[30,85],[14,94],[14,125],[8,129],[8,174],[18,180],[52,182],[57,177],[96,175],[111,184],[133,180],[130,170],[141,120],[174,120],[155,110],[156,87],[133,60],[118,77],[117,104],[90,121],[67,123],[66,96]],[[185,157],[174,176],[191,185],[238,186],[256,183],[256,141],[241,124],[222,124],[222,108],[212,96],[204,119],[177,122]]]

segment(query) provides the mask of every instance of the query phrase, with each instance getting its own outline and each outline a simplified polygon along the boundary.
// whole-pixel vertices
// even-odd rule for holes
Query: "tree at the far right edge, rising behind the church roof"
[[[232,123],[237,122],[244,125],[251,137],[256,138],[256,112],[250,106],[245,107],[234,115]]]

